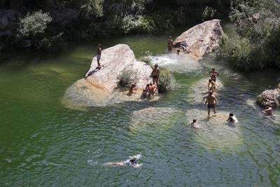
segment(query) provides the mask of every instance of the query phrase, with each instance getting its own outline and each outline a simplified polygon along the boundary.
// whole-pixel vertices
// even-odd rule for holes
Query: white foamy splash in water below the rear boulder
[[[202,66],[195,60],[195,58],[189,55],[176,55],[176,54],[165,54],[160,56],[151,57],[153,64],[158,64],[159,67],[169,68],[171,71],[179,73],[197,71]]]

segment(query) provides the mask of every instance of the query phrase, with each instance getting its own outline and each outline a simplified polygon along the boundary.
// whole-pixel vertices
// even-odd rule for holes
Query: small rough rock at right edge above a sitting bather
[[[272,104],[272,107],[279,106],[280,102],[280,89],[265,90],[257,97],[257,103],[260,106]]]

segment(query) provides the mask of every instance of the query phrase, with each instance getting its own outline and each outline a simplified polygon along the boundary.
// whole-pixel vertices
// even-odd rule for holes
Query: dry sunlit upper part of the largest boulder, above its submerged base
[[[125,44],[119,44],[111,48],[102,50],[100,60],[102,69],[87,77],[87,81],[106,91],[113,91],[118,83],[118,75],[123,70],[132,70],[137,77],[137,88],[144,88],[146,83],[151,82],[152,68],[144,62],[139,62],[135,59],[133,51]],[[97,57],[92,59],[90,70],[87,71],[87,76],[90,72],[94,72],[97,67]]]

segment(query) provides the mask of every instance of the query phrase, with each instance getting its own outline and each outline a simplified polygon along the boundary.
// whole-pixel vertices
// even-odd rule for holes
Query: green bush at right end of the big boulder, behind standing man
[[[158,92],[167,92],[169,90],[174,89],[174,76],[169,69],[161,69],[160,70],[160,78],[159,78],[159,88]]]

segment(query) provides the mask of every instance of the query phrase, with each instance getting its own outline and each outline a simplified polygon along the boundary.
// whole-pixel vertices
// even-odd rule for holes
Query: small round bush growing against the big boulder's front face
[[[127,90],[128,88],[130,88],[130,85],[132,85],[132,83],[137,82],[136,75],[137,75],[136,72],[131,69],[128,70],[124,69],[123,71],[121,71],[117,77],[118,79],[117,88],[120,90]]]

